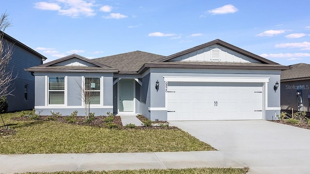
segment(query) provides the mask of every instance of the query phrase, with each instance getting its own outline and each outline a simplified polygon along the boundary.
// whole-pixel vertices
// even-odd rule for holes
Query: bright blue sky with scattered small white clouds
[[[310,0],[3,0],[7,34],[51,61],[163,56],[220,39],[283,65],[310,64]],[[47,62],[46,61],[46,62]]]

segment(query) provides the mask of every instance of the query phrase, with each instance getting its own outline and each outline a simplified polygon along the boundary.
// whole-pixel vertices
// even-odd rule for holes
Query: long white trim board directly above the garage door
[[[173,77],[164,76],[165,82],[236,82],[268,83],[269,77]]]

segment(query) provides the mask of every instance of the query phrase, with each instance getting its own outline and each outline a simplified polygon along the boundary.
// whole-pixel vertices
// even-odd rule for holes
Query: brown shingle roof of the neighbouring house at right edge
[[[310,79],[310,64],[298,63],[281,72],[281,82]]]

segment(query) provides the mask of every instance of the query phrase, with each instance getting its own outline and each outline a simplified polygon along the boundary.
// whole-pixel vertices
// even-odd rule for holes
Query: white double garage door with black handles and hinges
[[[262,83],[168,82],[168,120],[263,119]]]

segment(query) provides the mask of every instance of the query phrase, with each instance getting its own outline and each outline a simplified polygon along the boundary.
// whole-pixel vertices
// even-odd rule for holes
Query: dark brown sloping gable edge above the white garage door
[[[225,48],[227,48],[227,49],[233,50],[233,51],[235,51],[235,52],[237,52],[237,53],[239,53],[239,54],[241,54],[241,55],[244,55],[244,56],[246,56],[246,57],[252,58],[252,59],[257,60],[257,61],[259,61],[259,62],[262,62],[262,63],[264,63],[264,64],[279,65],[279,64],[276,63],[276,62],[273,62],[273,61],[268,60],[268,59],[266,59],[266,58],[260,57],[260,56],[258,56],[258,55],[253,54],[253,53],[250,53],[250,52],[248,52],[248,51],[246,51],[246,50],[244,50],[244,49],[241,49],[241,48],[239,48],[239,47],[236,47],[236,46],[234,46],[234,45],[232,45],[232,44],[230,44],[230,43],[226,43],[226,42],[224,42],[224,41],[222,41],[222,40],[219,40],[219,39],[216,39],[216,40],[211,41],[211,42],[208,42],[208,43],[203,43],[203,44],[198,45],[198,46],[195,46],[195,47],[193,47],[193,48],[189,48],[189,49],[184,50],[184,51],[181,51],[181,52],[179,52],[179,53],[175,53],[175,54],[173,54],[173,55],[171,55],[171,56],[167,56],[167,57],[165,57],[165,58],[161,58],[161,59],[155,60],[154,62],[164,62],[164,61],[168,61],[168,60],[170,60],[170,59],[172,59],[172,58],[176,58],[176,57],[179,57],[179,56],[183,56],[183,55],[185,55],[185,54],[187,54],[187,53],[190,53],[190,52],[193,52],[193,51],[197,51],[197,50],[200,50],[200,49],[202,49],[202,48],[205,48],[205,47],[208,47],[208,46],[211,46],[211,45],[214,45],[214,44],[221,45],[221,46],[223,46],[223,47],[225,47]]]

